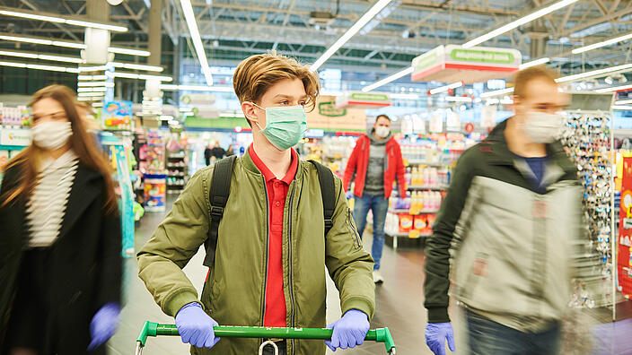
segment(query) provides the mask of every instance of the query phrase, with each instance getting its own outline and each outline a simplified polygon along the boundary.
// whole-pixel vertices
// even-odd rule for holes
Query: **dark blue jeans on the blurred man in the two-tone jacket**
[[[470,354],[554,355],[559,353],[560,325],[542,333],[522,333],[466,310]]]

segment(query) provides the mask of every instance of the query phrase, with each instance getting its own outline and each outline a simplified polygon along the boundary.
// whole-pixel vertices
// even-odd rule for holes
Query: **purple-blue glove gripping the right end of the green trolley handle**
[[[325,341],[331,351],[336,349],[355,348],[362,345],[366,333],[369,332],[369,317],[357,309],[349,309],[345,316],[333,324],[327,325],[327,329],[333,329],[331,341]]]

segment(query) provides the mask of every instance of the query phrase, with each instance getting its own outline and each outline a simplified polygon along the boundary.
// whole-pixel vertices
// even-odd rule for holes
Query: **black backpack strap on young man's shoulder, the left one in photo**
[[[211,224],[208,228],[208,238],[204,242],[206,248],[206,257],[204,265],[212,267],[215,264],[215,247],[217,247],[217,231],[219,222],[224,216],[224,207],[228,201],[228,195],[231,192],[231,177],[233,177],[233,166],[235,165],[235,156],[218,160],[213,167],[213,177],[211,178],[211,191],[208,195],[208,201],[211,203]]]

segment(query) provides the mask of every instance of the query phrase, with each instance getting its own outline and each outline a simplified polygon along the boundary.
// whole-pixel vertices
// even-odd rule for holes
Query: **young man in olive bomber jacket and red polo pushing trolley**
[[[340,179],[331,176],[329,197],[335,207],[328,226],[317,169],[292,149],[307,129],[305,108],[315,106],[318,76],[294,59],[266,54],[242,61],[233,82],[253,143],[234,161],[215,261],[201,299],[181,269],[209,235],[210,182],[219,163],[191,178],[138,253],[139,276],[164,313],[175,317],[192,351],[254,354],[260,340],[220,342],[212,325],[325,326],[326,266],[344,315],[329,325],[333,337],[326,343],[331,349],[362,344],[375,307],[373,260],[355,232]],[[276,344],[281,354],[325,352],[325,343],[318,341]],[[264,351],[272,353],[271,346]]]

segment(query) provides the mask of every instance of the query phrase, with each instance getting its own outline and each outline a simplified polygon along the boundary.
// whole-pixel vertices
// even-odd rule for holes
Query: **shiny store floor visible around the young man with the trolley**
[[[170,206],[168,206],[170,207]],[[136,250],[151,237],[155,227],[162,221],[165,213],[147,213],[141,225],[136,229]],[[371,246],[371,236],[364,237],[364,246]],[[201,290],[206,276],[202,266],[204,251],[196,255],[184,271]],[[386,281],[377,287],[377,313],[373,317],[372,328],[388,326],[398,345],[398,354],[432,354],[424,341],[426,309],[422,304],[424,256],[418,250],[399,250],[384,247],[382,256],[382,274]],[[110,340],[110,354],[133,354],[136,336],[145,320],[173,323],[173,318],[162,314],[154,299],[145,290],[145,285],[137,277],[136,259],[125,260],[124,290],[126,304],[121,313],[121,325]],[[196,282],[196,280],[198,282]],[[329,281],[328,285],[328,322],[340,316],[338,291]],[[147,343],[144,353],[147,355],[171,355],[188,353],[189,347],[175,338],[154,338]],[[338,353],[384,354],[382,344],[366,343],[355,351],[336,351]],[[328,350],[328,353],[332,353]]]

